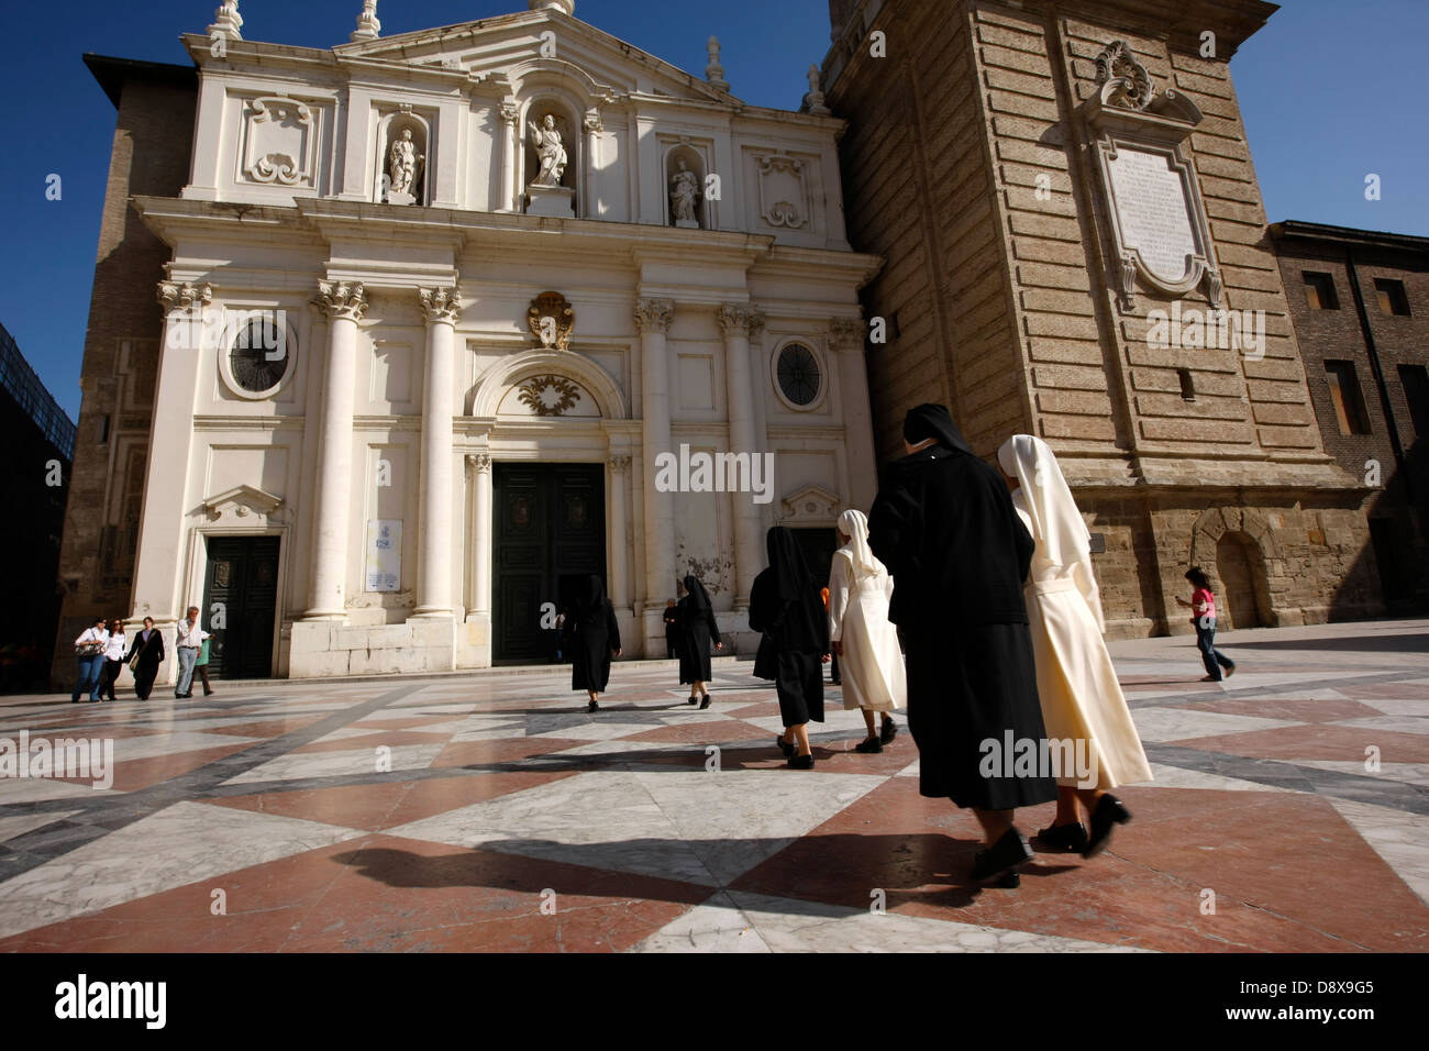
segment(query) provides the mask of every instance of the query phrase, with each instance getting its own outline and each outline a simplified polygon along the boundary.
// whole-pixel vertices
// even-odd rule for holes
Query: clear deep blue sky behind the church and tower
[[[0,0],[7,89],[0,136],[0,322],[71,419],[89,319],[114,107],[86,51],[187,63],[217,0]],[[249,40],[330,47],[347,40],[360,0],[240,0]],[[383,34],[522,10],[522,0],[380,0]],[[805,71],[829,47],[823,0],[577,0],[576,14],[703,76],[704,41],[735,94],[796,109]],[[1272,222],[1302,219],[1429,235],[1429,4],[1288,0],[1240,50],[1232,73]],[[46,200],[46,176],[63,199]],[[1382,180],[1366,202],[1365,176]]]

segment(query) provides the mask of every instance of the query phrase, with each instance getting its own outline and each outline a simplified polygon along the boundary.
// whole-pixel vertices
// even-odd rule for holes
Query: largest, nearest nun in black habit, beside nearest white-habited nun
[[[1046,755],[1022,596],[1035,545],[1002,475],[973,453],[947,409],[912,409],[903,442],[907,455],[885,469],[869,512],[869,548],[893,575],[889,619],[907,649],[919,791],[976,814],[987,845],[975,879],[1016,885],[1013,869],[1032,848],[1013,811],[1056,798],[1049,771],[1003,755]]]

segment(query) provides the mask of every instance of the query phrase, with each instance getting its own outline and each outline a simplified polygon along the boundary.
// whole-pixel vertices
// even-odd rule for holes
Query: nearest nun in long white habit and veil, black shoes
[[[1053,751],[1056,742],[1070,742],[1059,755],[1070,751],[1075,766],[1066,769],[1063,759],[1057,816],[1036,845],[1090,858],[1106,848],[1112,827],[1132,816],[1107,789],[1150,781],[1152,771],[1102,638],[1106,621],[1092,573],[1092,538],[1056,456],[1042,439],[1015,435],[997,450],[997,463],[1037,545],[1026,599],[1042,721]]]

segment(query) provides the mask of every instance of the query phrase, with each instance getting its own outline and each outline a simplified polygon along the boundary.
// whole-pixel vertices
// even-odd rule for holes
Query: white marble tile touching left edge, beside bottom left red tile
[[[0,938],[360,835],[180,802],[0,884]]]

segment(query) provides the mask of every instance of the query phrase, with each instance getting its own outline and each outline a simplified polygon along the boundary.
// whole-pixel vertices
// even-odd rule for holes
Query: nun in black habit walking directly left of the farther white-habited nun
[[[749,591],[749,626],[763,632],[755,675],[773,679],[785,732],[776,744],[795,769],[813,769],[809,721],[823,722],[823,668],[829,613],[795,535],[775,526],[766,538],[769,568]]]

